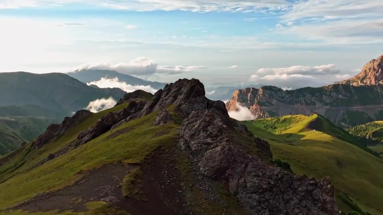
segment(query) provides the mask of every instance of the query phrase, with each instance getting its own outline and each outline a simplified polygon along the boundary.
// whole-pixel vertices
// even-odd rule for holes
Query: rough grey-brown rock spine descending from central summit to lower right
[[[241,206],[253,215],[339,213],[329,178],[316,181],[293,176],[262,156],[247,154],[236,140],[229,139],[228,130],[239,126],[224,115],[215,110],[191,112],[179,128],[178,146],[198,163],[203,176],[223,180]],[[262,153],[270,156],[270,147],[262,141],[254,138]]]

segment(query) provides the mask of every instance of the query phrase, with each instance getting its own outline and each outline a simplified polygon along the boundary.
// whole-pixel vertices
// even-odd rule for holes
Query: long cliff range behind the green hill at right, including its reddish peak
[[[236,90],[226,109],[237,110],[236,103],[239,103],[249,108],[255,118],[317,112],[342,126],[382,120],[382,66],[383,55],[368,62],[355,77],[318,88],[284,91],[275,86],[262,86]]]

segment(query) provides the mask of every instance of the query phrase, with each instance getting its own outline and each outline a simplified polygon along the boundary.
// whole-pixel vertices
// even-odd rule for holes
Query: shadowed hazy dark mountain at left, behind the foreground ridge
[[[86,108],[90,101],[113,97],[116,101],[126,92],[119,88],[94,88],[64,73],[0,73],[1,106],[34,105],[70,116]],[[14,116],[14,114],[12,114]]]

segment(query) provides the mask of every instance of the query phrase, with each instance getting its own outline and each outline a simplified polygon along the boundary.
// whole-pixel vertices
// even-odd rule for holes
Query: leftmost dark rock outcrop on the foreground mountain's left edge
[[[56,140],[65,134],[69,129],[80,124],[85,118],[93,113],[88,110],[77,111],[72,117],[65,117],[61,124],[51,124],[47,127],[44,134],[40,135],[32,145],[35,148],[40,148],[43,145]]]

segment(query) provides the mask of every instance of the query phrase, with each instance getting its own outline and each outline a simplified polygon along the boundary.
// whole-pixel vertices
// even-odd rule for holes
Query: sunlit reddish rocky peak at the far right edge
[[[340,83],[354,86],[383,84],[383,55],[370,60],[358,75]]]

